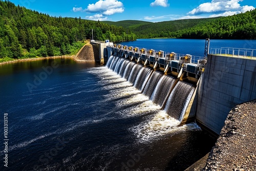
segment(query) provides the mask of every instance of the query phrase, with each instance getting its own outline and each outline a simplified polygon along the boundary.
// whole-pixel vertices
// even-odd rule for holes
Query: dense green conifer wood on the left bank
[[[122,27],[81,18],[51,17],[0,1],[0,58],[72,54],[86,39],[125,41],[135,34]]]

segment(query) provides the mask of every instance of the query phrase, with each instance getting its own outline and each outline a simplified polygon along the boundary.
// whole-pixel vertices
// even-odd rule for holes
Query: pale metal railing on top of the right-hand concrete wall
[[[224,55],[232,57],[246,57],[256,58],[256,49],[241,49],[241,48],[211,48],[209,54],[212,55]]]

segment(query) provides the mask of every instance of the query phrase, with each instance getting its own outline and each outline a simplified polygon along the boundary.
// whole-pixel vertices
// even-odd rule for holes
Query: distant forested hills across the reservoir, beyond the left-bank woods
[[[158,23],[138,20],[104,23],[129,29],[137,38],[256,39],[256,10],[227,17],[181,19]]]

